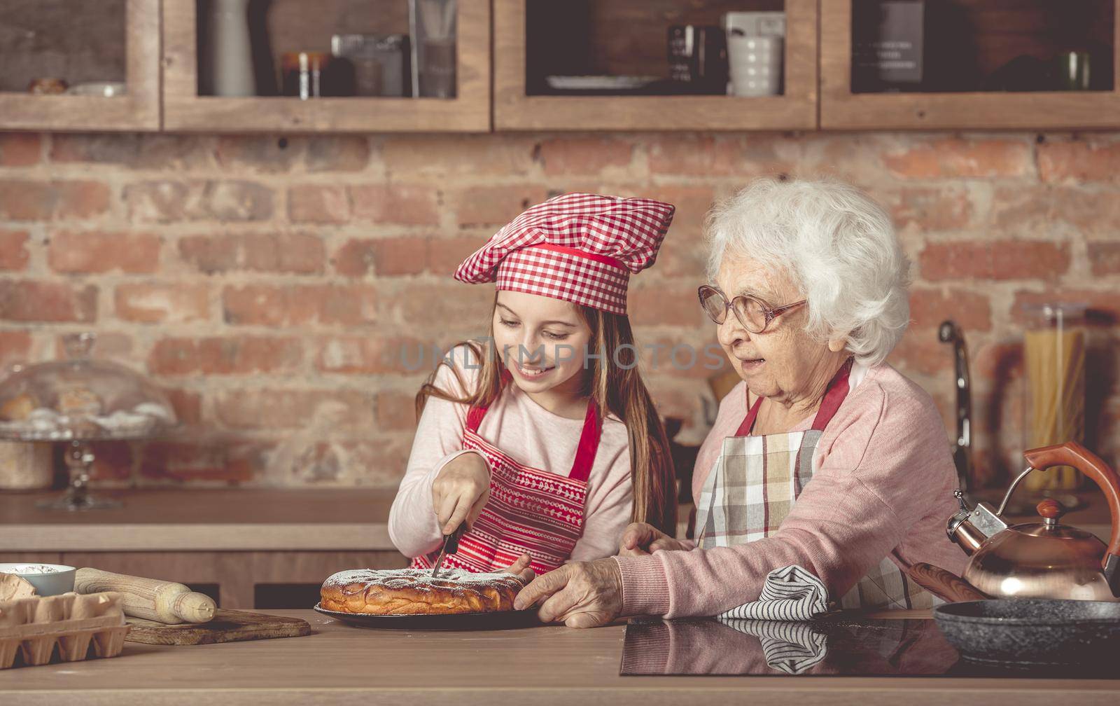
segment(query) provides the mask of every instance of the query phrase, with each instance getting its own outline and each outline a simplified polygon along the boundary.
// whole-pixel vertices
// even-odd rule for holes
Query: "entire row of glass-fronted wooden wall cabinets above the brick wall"
[[[540,41],[526,27],[526,7],[545,0],[459,0],[457,93],[433,97],[319,97],[261,95],[223,97],[199,92],[199,0],[101,0],[77,3],[0,0],[0,130],[116,130],[197,132],[486,132],[491,130],[878,130],[878,129],[1079,129],[1120,128],[1120,0],[928,0],[926,10],[952,6],[969,21],[927,27],[927,41],[968,44],[977,36],[984,55],[976,76],[995,59],[1039,56],[1091,41],[1103,47],[1091,69],[1105,77],[1090,91],[1010,92],[945,90],[870,93],[852,90],[852,8],[864,0],[579,0],[560,11],[591,7],[599,28],[572,37],[567,27],[545,27],[557,52],[590,52],[601,74],[666,71],[665,31],[673,24],[717,24],[729,10],[785,12],[783,94],[545,95],[530,81],[530,58]],[[405,0],[272,0],[267,26],[255,35],[258,63],[276,65],[284,50],[327,49],[332,32],[411,34]],[[35,8],[29,12],[28,8]],[[1088,9],[1086,9],[1088,8]],[[575,11],[575,10],[572,10]],[[95,15],[90,15],[96,12]],[[7,15],[6,15],[7,13]],[[38,15],[37,15],[38,13]],[[35,17],[27,17],[34,15]],[[41,15],[41,17],[39,17]],[[1082,16],[1088,30],[1063,41],[1026,39],[1053,35],[1066,16]],[[363,21],[353,21],[361,17]],[[16,19],[13,19],[16,18]],[[95,18],[95,21],[91,20]],[[977,21],[976,18],[980,18]],[[1056,21],[1058,18],[1061,21]],[[1088,19],[1085,19],[1088,18]],[[19,21],[16,21],[16,20]],[[864,26],[859,24],[858,26]],[[948,29],[946,29],[948,27]],[[119,40],[105,36],[120,34]],[[58,34],[52,34],[58,32]],[[84,34],[83,34],[84,32]],[[551,32],[551,34],[550,34]],[[971,35],[969,32],[972,32]],[[57,36],[58,47],[41,38]],[[115,34],[113,34],[115,36]],[[93,37],[94,39],[91,39]],[[260,37],[265,37],[261,43]],[[32,40],[34,39],[34,40]],[[112,71],[84,66],[90,41],[113,54]],[[325,44],[326,43],[326,44]],[[46,48],[44,48],[46,47]],[[77,47],[77,48],[75,48]],[[108,47],[108,48],[106,48]],[[987,48],[984,48],[987,47]],[[530,49],[526,58],[526,49]],[[65,75],[57,57],[71,56]],[[963,49],[961,49],[963,50]],[[534,54],[536,52],[536,54]],[[7,54],[6,54],[7,53]],[[54,58],[52,58],[54,57]],[[995,57],[995,58],[993,58]],[[54,62],[54,63],[53,63]],[[986,63],[987,62],[987,63]],[[595,62],[589,63],[590,66]],[[17,66],[18,64],[18,66]],[[96,64],[93,62],[92,64]],[[941,66],[926,58],[926,68]],[[202,72],[205,74],[205,72]],[[260,73],[260,72],[258,72]],[[268,73],[268,72],[265,72]],[[96,74],[86,76],[85,74]],[[27,76],[76,81],[123,80],[127,95],[30,95]],[[970,76],[968,71],[956,75]],[[493,77],[492,77],[493,76]],[[7,80],[7,83],[3,81]],[[274,78],[269,78],[274,83]],[[979,82],[977,82],[979,83]],[[925,91],[925,89],[923,89]],[[273,91],[274,92],[274,91]],[[264,91],[268,93],[268,91]]]

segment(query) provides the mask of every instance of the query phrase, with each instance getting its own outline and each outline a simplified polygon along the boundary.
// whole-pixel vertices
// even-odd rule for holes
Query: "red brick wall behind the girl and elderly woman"
[[[913,325],[892,356],[953,424],[949,349],[965,331],[978,463],[1018,466],[1025,301],[1089,301],[1089,440],[1120,449],[1120,134],[0,134],[0,363],[49,360],[92,329],[187,422],[112,445],[116,483],[392,484],[423,372],[401,346],[485,331],[489,287],[450,272],[559,191],[678,205],[633,281],[640,343],[713,341],[694,300],[711,199],[765,173],[828,173],[894,214],[914,260]],[[430,356],[429,356],[430,361]],[[652,362],[651,362],[652,365]],[[694,418],[711,371],[646,378]]]

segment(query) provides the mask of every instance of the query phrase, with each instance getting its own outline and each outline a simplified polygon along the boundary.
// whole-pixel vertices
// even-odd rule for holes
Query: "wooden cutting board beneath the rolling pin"
[[[311,626],[306,620],[298,617],[221,609],[215,611],[214,620],[207,623],[167,625],[142,617],[129,617],[128,623],[132,625],[132,630],[124,639],[147,644],[213,644],[311,634]]]

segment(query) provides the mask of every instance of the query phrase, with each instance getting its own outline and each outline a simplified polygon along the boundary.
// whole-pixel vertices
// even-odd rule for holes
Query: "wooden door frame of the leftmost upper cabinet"
[[[0,130],[159,130],[159,4],[125,2],[127,95],[0,93]]]

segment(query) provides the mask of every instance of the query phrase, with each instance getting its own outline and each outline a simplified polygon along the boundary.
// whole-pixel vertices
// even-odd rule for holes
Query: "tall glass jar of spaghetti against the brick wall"
[[[1049,303],[1024,307],[1027,329],[1024,444],[1026,448],[1085,436],[1085,305]],[[1081,473],[1071,466],[1035,472],[1023,484],[1032,491],[1072,491]]]

